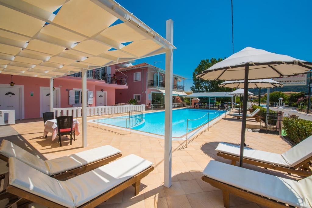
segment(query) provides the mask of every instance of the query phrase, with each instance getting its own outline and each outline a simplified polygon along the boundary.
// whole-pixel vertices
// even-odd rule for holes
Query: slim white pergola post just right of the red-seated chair
[[[82,89],[82,147],[87,146],[87,70],[81,72]]]

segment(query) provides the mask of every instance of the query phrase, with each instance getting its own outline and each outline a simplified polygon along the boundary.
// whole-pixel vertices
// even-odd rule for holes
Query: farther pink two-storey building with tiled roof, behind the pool
[[[165,70],[142,63],[129,67],[116,65],[116,75],[127,76],[128,89],[116,89],[116,102],[127,103],[137,99],[138,104],[164,104]],[[185,78],[173,74],[173,103],[180,103],[184,92]],[[182,98],[183,99],[183,98]]]

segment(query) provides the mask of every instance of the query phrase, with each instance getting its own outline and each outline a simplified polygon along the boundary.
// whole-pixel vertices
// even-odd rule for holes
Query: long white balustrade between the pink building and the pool
[[[113,105],[113,106],[95,106],[87,107],[87,116],[106,115],[106,114],[119,114],[127,113],[131,110],[144,111],[145,105]],[[73,116],[82,117],[81,107],[76,108],[54,108],[54,116]]]

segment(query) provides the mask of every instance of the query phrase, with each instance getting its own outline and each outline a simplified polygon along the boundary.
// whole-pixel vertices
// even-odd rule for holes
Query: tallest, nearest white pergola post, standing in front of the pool
[[[173,44],[173,21],[166,21],[166,40]],[[164,186],[171,186],[173,48],[166,50]]]

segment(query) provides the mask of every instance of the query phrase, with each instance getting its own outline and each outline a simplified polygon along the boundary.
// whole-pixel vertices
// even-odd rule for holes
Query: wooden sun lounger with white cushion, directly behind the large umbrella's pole
[[[243,163],[308,177],[312,175],[309,168],[312,160],[311,147],[312,136],[282,154],[245,147]],[[239,146],[221,142],[216,151],[218,156],[232,160],[232,165],[239,161]],[[299,169],[297,170],[297,168]]]

